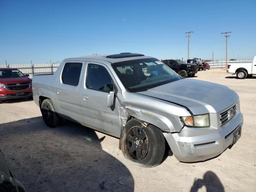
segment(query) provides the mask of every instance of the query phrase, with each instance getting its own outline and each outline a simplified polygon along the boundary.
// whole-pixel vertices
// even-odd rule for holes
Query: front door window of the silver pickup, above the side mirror
[[[106,68],[97,64],[88,64],[86,87],[108,93],[113,90],[112,78]]]

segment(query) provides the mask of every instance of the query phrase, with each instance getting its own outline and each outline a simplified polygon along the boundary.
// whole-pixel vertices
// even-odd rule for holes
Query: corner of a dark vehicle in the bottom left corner
[[[1,192],[26,192],[22,183],[16,180],[10,172],[4,155],[0,150],[0,191]]]

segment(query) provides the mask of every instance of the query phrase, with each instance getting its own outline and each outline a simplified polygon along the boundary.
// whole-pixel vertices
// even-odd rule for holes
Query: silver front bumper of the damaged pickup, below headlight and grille
[[[218,128],[218,130],[214,128],[212,130],[204,130],[204,128],[188,128],[185,126],[180,133],[164,133],[164,136],[174,156],[179,161],[204,161],[218,156],[232,145],[234,138],[232,133],[236,128],[242,128],[242,125],[243,115],[238,113],[225,127]],[[196,132],[195,129],[205,134],[199,136],[198,134],[193,134]],[[183,134],[181,134],[182,132]]]

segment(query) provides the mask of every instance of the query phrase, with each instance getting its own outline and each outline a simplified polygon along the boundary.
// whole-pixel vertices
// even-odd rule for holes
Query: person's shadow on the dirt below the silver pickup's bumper
[[[197,192],[203,186],[206,187],[207,192],[224,192],[224,186],[212,171],[206,172],[203,179],[195,179],[190,192]]]

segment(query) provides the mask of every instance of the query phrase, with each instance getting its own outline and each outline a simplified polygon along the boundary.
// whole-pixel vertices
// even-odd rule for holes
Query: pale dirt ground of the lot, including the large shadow
[[[195,79],[228,86],[240,96],[242,137],[220,156],[182,163],[174,156],[141,168],[118,150],[118,139],[66,122],[48,128],[27,99],[0,103],[0,149],[28,192],[256,191],[256,76],[238,80],[224,69]]]

